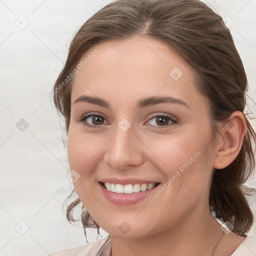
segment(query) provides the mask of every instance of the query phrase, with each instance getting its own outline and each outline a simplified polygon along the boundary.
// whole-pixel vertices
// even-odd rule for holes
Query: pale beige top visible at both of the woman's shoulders
[[[110,256],[110,235],[94,242],[51,253],[47,256]],[[256,256],[256,234],[246,234],[244,241],[230,256]]]

